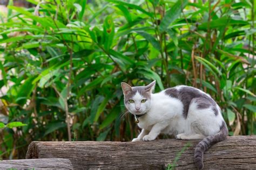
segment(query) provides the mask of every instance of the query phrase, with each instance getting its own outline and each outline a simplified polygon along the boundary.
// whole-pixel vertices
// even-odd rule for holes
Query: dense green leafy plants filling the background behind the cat
[[[130,141],[120,83],[190,85],[220,105],[230,135],[256,134],[255,1],[34,1],[0,24],[0,155],[32,140]],[[22,125],[23,125],[22,124]]]

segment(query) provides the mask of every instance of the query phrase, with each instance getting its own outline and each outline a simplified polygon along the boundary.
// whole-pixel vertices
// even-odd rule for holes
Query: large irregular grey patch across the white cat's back
[[[191,104],[192,99],[197,103],[199,109],[209,108],[212,106],[215,115],[218,114],[217,104],[207,94],[199,91],[194,87],[182,86],[179,89],[176,87],[166,89],[165,94],[170,97],[177,98],[183,103],[183,116],[187,118],[188,108]]]

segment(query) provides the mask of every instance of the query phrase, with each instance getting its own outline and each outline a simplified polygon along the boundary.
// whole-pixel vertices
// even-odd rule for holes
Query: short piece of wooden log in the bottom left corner
[[[69,159],[46,158],[46,159],[16,159],[0,161],[0,169],[73,169]]]

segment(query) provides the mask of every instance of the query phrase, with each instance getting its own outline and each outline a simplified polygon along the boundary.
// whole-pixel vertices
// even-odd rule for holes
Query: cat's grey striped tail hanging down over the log
[[[226,139],[228,135],[227,125],[223,121],[222,125],[220,126],[220,131],[215,134],[208,136],[204,138],[202,141],[197,144],[195,152],[194,152],[194,164],[199,169],[203,169],[204,162],[203,162],[203,156],[204,152],[207,151],[208,148],[210,148],[212,145],[216,144],[217,142],[223,141]]]

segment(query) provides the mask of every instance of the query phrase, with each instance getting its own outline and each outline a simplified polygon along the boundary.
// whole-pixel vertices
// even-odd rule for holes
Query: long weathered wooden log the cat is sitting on
[[[33,141],[26,158],[68,158],[74,169],[164,169],[190,142],[177,168],[195,169],[199,140],[164,139],[149,142]],[[256,169],[256,135],[228,137],[204,154],[205,169]]]

